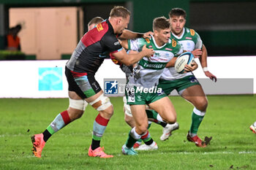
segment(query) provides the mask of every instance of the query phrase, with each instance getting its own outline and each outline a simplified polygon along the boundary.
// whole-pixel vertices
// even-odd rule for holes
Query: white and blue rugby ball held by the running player
[[[194,61],[194,55],[190,52],[182,53],[178,56],[178,58],[175,61],[174,69],[176,72],[182,74],[185,72],[184,68],[185,65],[191,66],[192,61]]]

